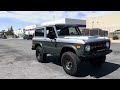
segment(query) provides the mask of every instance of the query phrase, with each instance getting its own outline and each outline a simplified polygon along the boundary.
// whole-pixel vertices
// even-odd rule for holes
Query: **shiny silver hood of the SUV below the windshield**
[[[65,36],[64,38],[66,39],[80,39],[85,42],[87,41],[101,41],[101,40],[106,40],[108,37],[98,37],[98,36]]]

